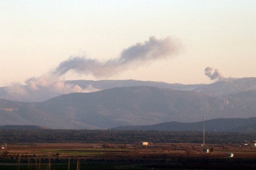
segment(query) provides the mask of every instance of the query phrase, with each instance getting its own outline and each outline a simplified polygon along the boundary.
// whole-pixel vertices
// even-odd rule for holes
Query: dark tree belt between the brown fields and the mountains
[[[206,132],[206,143],[241,143],[256,139],[256,133]],[[199,131],[113,131],[113,130],[0,130],[0,141],[8,143],[35,142],[108,142],[133,144],[154,143],[202,143]]]

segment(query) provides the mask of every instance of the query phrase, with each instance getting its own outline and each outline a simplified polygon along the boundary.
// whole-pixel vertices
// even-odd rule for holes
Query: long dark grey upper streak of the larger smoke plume
[[[165,39],[150,37],[148,41],[130,46],[123,50],[119,57],[105,62],[80,56],[71,57],[61,62],[52,74],[58,77],[66,74],[69,70],[74,70],[97,78],[110,77],[129,68],[170,57],[178,52],[179,46],[169,37]]]

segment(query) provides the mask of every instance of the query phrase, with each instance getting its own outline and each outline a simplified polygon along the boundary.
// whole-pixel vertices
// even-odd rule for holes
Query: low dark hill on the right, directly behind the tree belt
[[[166,122],[147,126],[120,126],[112,128],[112,130],[203,131],[203,121],[195,123]],[[205,131],[255,132],[255,130],[256,117],[205,120]]]

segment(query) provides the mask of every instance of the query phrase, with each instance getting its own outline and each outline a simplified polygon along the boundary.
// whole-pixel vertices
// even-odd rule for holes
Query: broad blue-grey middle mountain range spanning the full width
[[[159,87],[117,87],[70,93],[45,102],[0,100],[0,125],[39,125],[55,129],[108,129],[163,122],[196,122],[203,116],[255,116],[256,91],[212,96]],[[178,126],[178,125],[177,125]]]

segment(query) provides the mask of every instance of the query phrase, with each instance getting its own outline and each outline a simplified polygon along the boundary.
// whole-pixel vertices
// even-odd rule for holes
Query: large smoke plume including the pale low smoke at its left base
[[[70,57],[60,62],[53,71],[40,77],[29,78],[25,82],[27,86],[14,85],[7,88],[7,96],[10,100],[42,101],[65,93],[97,91],[100,89],[92,86],[81,88],[78,85],[66,84],[64,81],[60,81],[61,76],[72,70],[78,74],[108,78],[127,69],[151,63],[154,60],[172,57],[177,54],[179,48],[180,43],[173,41],[170,37],[164,39],[150,37],[148,41],[132,45],[124,49],[117,58],[107,61],[83,56]]]

